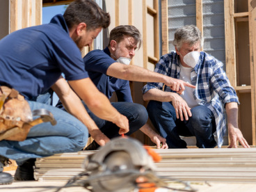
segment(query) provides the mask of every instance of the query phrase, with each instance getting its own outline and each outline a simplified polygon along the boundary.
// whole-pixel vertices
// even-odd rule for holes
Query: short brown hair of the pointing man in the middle
[[[112,29],[109,35],[109,46],[111,40],[115,40],[119,43],[121,40],[125,38],[125,36],[134,38],[134,40],[138,44],[138,49],[141,47],[141,33],[135,26],[132,25],[120,25]]]

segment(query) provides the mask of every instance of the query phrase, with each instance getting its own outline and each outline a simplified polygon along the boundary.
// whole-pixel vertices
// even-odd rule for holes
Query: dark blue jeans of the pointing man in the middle
[[[84,103],[83,103],[84,104]],[[135,104],[130,102],[112,102],[112,106],[122,115],[125,115],[129,120],[129,132],[125,135],[129,136],[134,133],[147,122],[147,110],[141,104]],[[106,120],[102,120],[94,115],[88,106],[84,104],[90,117],[95,121],[97,127],[109,138],[120,136],[118,131],[120,127]]]

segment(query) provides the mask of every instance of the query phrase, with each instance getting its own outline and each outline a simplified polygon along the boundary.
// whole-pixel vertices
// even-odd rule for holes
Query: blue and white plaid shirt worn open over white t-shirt
[[[171,51],[170,54],[161,56],[154,72],[179,79],[179,56],[176,52]],[[191,83],[196,86],[193,90],[194,99],[214,113],[218,147],[221,147],[223,136],[227,131],[224,106],[228,102],[239,104],[237,94],[223,70],[223,63],[201,51],[200,61],[191,71]],[[147,83],[143,87],[143,94],[152,88],[163,90],[163,83]],[[164,91],[175,92],[168,86],[164,87]]]

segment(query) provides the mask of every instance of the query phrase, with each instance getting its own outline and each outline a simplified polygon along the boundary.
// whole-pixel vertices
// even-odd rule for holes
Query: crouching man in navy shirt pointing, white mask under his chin
[[[133,103],[129,80],[163,82],[174,90],[179,90],[179,88],[184,90],[184,86],[191,85],[179,79],[150,72],[143,67],[129,65],[135,55],[135,50],[141,47],[141,42],[141,33],[136,27],[129,25],[117,26],[111,30],[108,47],[104,50],[90,51],[84,56],[83,62],[86,65],[86,71],[88,71],[90,79],[100,92],[109,98],[114,92],[116,93],[118,102],[112,102],[111,104],[128,118],[130,129],[127,135],[140,129],[150,137],[152,142],[157,144],[157,148],[160,148],[160,143],[163,143],[162,148],[168,148],[166,139],[159,136],[147,124],[145,125],[147,111],[143,105]],[[61,107],[61,104],[58,103],[57,106]],[[89,130],[90,133],[93,133],[92,136],[95,141],[86,147],[86,150],[96,150],[99,145],[102,145],[101,143],[106,143],[109,138],[118,136],[118,127],[112,122],[98,118],[87,106],[86,109],[100,129],[100,131],[95,130],[94,133]]]

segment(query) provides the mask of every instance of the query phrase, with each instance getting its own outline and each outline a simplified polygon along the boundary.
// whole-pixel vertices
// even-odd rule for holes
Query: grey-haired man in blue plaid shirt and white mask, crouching
[[[163,83],[147,83],[143,99],[150,101],[147,112],[150,120],[170,148],[185,148],[179,136],[195,136],[201,148],[223,145],[228,129],[230,146],[250,147],[238,128],[239,100],[223,70],[223,63],[201,51],[202,36],[193,25],[175,31],[175,51],[161,56],[154,72],[182,79],[196,88],[175,92]],[[227,128],[224,113],[227,113]]]

